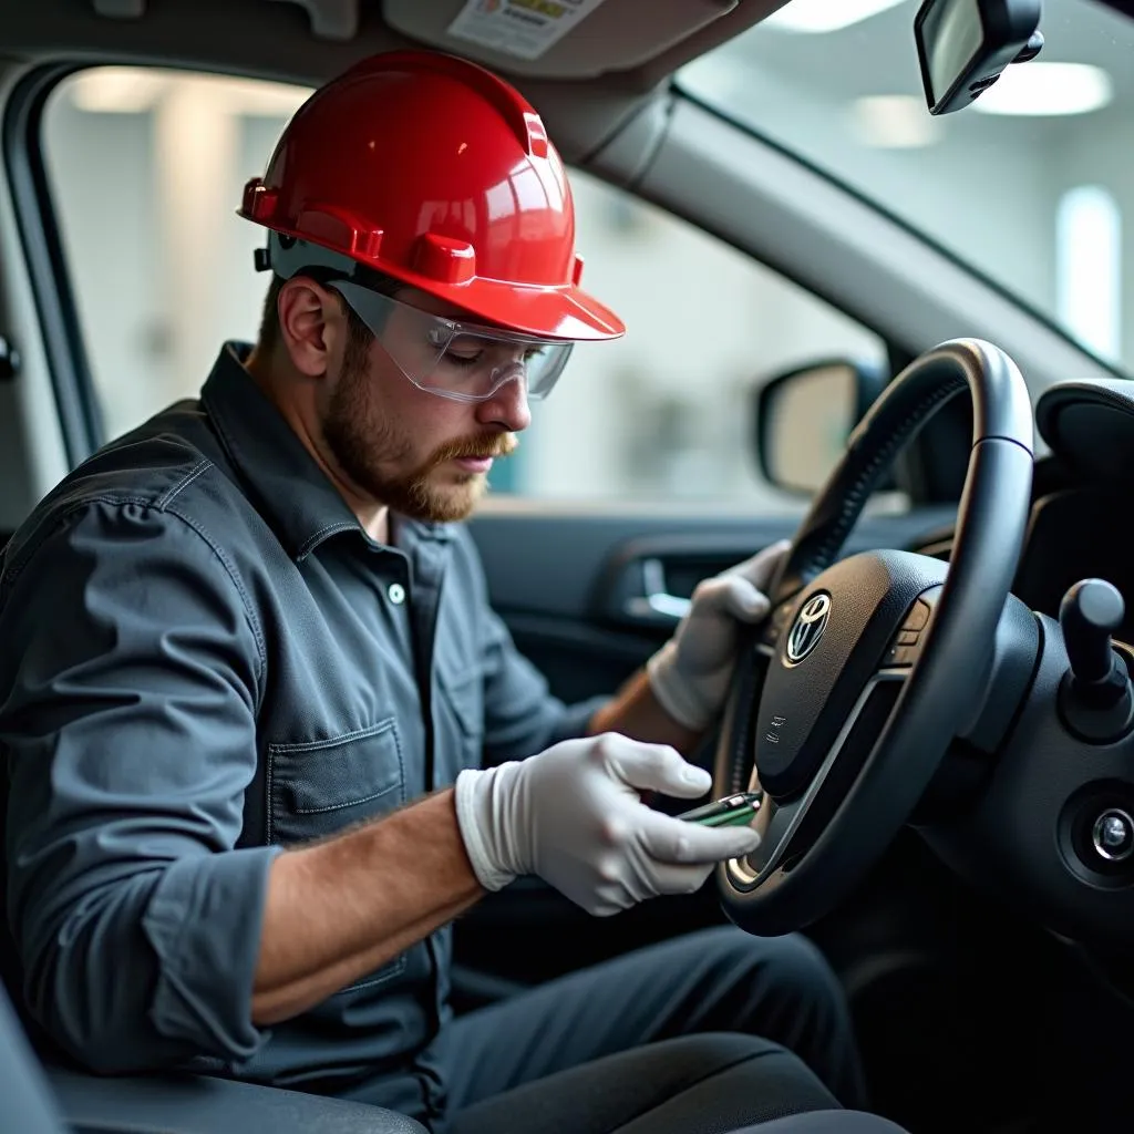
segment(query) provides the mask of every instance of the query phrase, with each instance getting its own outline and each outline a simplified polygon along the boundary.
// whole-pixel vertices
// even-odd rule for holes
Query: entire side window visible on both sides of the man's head
[[[255,337],[263,237],[234,210],[307,93],[104,67],[52,94],[48,174],[108,435],[195,396],[223,339]],[[498,465],[496,491],[802,507],[754,457],[754,393],[821,359],[880,367],[883,342],[693,226],[582,172],[572,185],[583,286],[628,333],[576,348],[516,456]],[[794,476],[814,480],[823,469],[802,466],[835,459],[841,437],[818,443],[821,428],[776,434]]]

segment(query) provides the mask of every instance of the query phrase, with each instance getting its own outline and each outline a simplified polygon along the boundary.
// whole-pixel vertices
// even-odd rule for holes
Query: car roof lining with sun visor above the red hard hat
[[[446,34],[464,0],[8,0],[0,51],[319,85],[378,51],[433,46],[509,77],[583,162],[680,66],[786,0],[604,0],[533,62]]]

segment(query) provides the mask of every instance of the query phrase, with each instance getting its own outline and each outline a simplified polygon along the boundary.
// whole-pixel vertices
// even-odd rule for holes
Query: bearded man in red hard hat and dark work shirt
[[[611,914],[755,845],[642,793],[708,789],[677,750],[781,549],[568,709],[452,524],[570,344],[623,332],[578,288],[539,117],[471,64],[375,57],[301,109],[242,214],[273,273],[255,349],[226,345],[200,401],[91,458],[5,556],[34,1016],[95,1070],[189,1066],[464,1134],[856,1102],[845,1006],[796,939],[712,931],[450,1018],[446,926],[485,891],[533,873]]]

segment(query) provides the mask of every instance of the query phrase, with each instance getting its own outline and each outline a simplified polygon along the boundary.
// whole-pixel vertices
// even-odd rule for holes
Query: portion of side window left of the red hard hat
[[[261,230],[236,215],[303,87],[156,68],[64,79],[43,152],[107,437],[201,389],[254,338]]]

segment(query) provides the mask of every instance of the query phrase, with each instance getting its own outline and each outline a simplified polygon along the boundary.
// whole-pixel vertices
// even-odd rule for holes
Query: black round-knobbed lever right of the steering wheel
[[[1112,744],[1134,725],[1129,674],[1110,638],[1125,612],[1122,594],[1101,578],[1076,583],[1059,604],[1070,662],[1059,686],[1059,709],[1064,723],[1093,744]]]

